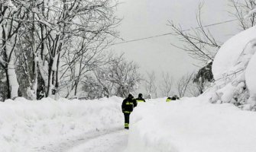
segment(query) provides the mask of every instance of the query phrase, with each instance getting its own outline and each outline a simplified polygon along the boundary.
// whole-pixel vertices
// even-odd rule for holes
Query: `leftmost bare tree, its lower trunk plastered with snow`
[[[17,56],[18,37],[21,33],[22,21],[26,17],[24,7],[16,7],[21,5],[20,2],[1,1],[0,2],[0,64],[5,69],[5,77],[7,83],[7,98],[18,97],[18,81],[15,73],[15,65]]]

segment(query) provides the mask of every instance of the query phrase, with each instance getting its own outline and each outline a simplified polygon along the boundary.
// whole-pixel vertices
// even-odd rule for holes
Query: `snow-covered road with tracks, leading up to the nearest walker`
[[[90,131],[63,141],[50,141],[43,147],[35,147],[40,152],[122,152],[128,143],[128,131],[123,128]]]

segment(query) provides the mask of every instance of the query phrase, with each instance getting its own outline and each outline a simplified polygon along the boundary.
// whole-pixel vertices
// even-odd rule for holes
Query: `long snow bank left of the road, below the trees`
[[[122,125],[122,98],[0,103],[0,151],[36,151],[50,141]]]

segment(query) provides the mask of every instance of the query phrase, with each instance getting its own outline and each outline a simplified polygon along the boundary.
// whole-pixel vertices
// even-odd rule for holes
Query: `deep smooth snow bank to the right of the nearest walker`
[[[131,114],[125,152],[256,151],[256,112],[205,100],[158,99],[139,105]]]

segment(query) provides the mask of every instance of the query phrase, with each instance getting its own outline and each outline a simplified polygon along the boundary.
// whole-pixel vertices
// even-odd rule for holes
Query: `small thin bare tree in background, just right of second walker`
[[[156,85],[156,75],[154,71],[151,73],[147,72],[144,88],[147,91],[148,98],[157,97],[157,85]]]

